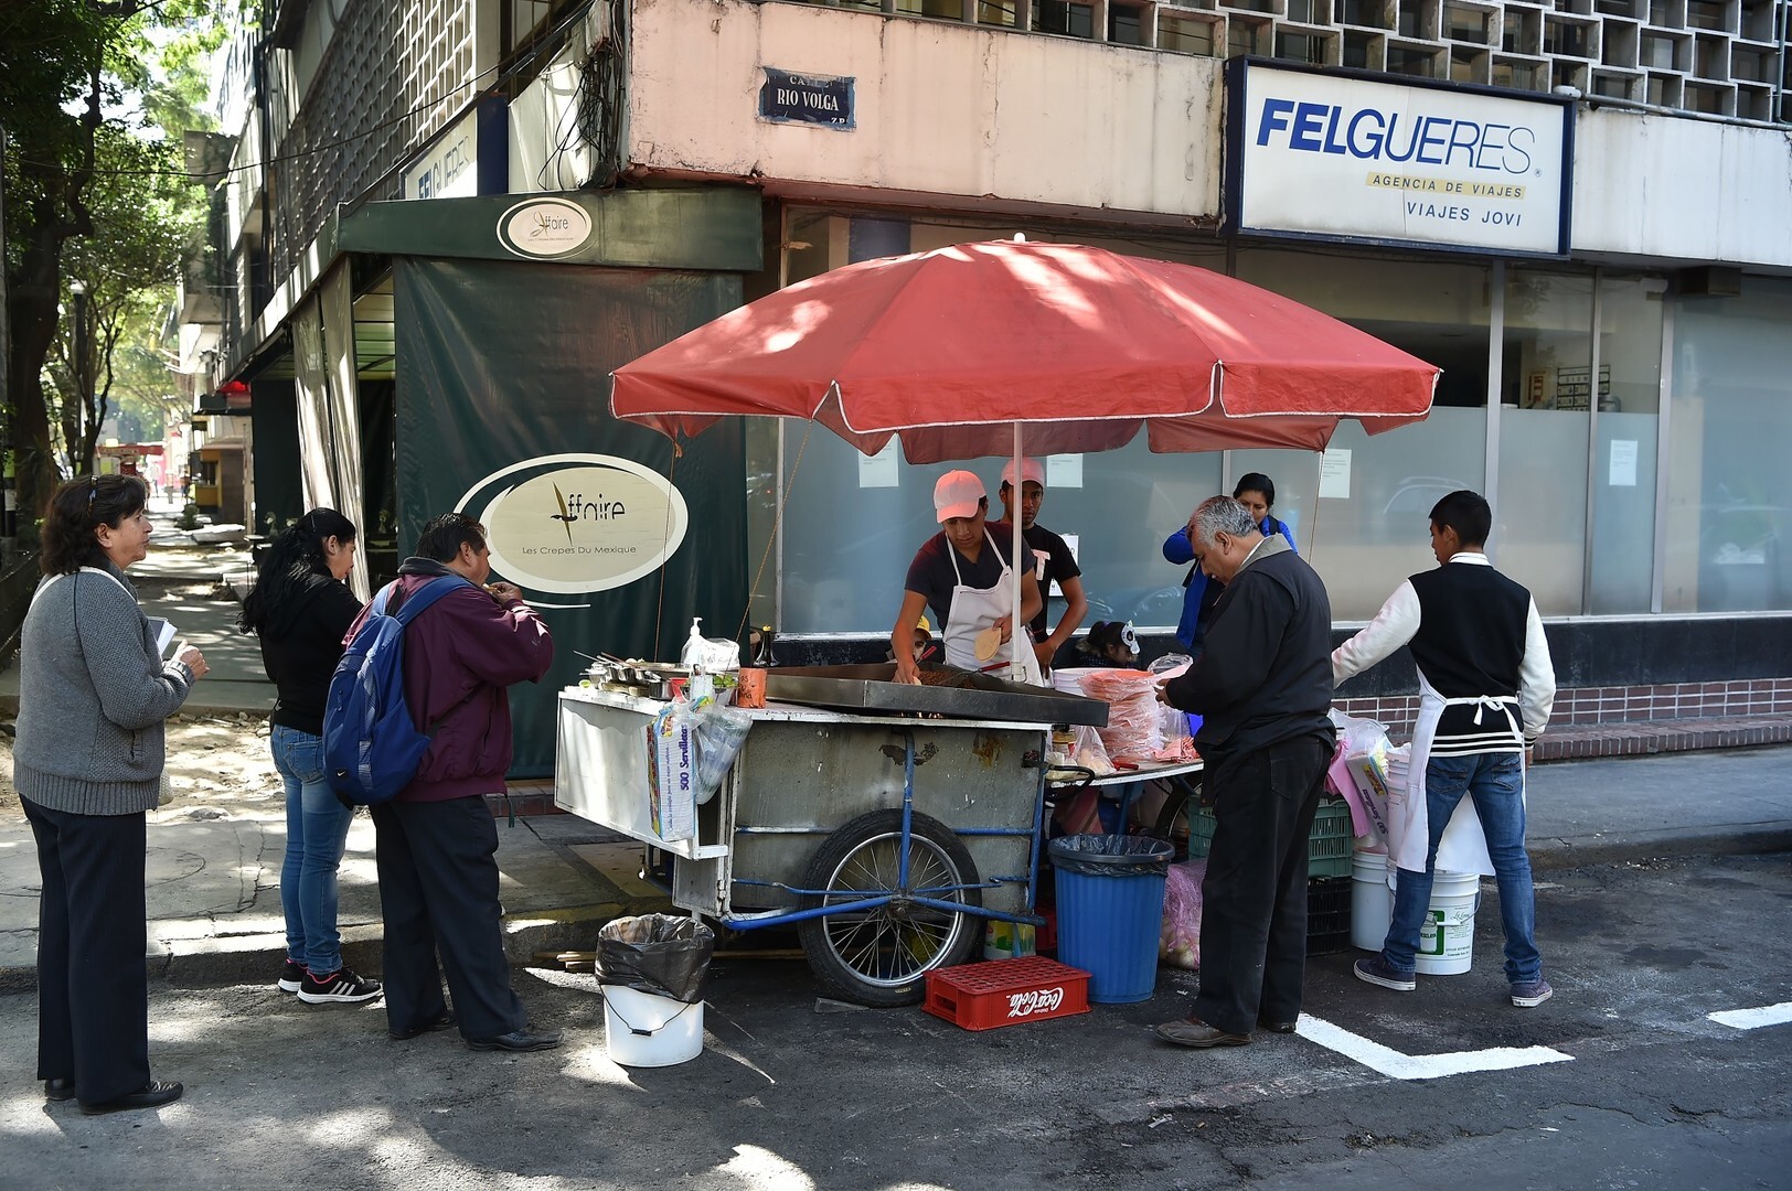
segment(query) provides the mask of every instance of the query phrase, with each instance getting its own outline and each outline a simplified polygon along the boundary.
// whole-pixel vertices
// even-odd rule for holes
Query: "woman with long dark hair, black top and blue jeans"
[[[337,801],[324,779],[330,675],[360,616],[360,600],[342,582],[353,566],[355,523],[335,509],[312,509],[274,539],[242,602],[242,630],[262,639],[262,664],[278,691],[271,747],[287,786],[287,860],[280,867],[287,962],[278,983],[310,1005],[380,996],[378,980],[342,965],[337,869],[355,808]]]

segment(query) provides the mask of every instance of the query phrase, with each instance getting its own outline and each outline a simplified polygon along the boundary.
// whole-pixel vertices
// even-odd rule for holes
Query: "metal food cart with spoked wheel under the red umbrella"
[[[735,930],[794,924],[830,992],[914,1003],[926,971],[982,944],[986,919],[1039,922],[1052,724],[1106,724],[1107,704],[891,673],[769,672],[767,706],[747,711],[753,729],[688,840],[654,831],[647,797],[647,731],[667,704],[566,688],[554,801],[668,853],[674,906]]]

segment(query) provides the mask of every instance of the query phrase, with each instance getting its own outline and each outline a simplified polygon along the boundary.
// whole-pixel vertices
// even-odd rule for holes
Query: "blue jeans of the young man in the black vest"
[[[1505,980],[1529,983],[1543,974],[1538,955],[1538,910],[1530,892],[1530,854],[1525,853],[1525,763],[1516,752],[1482,752],[1466,758],[1432,758],[1425,767],[1425,817],[1430,844],[1425,872],[1400,870],[1394,887],[1394,922],[1382,944],[1382,958],[1398,973],[1417,965],[1419,928],[1432,904],[1432,869],[1437,842],[1462,795],[1475,799],[1480,829],[1487,836],[1495,881],[1500,887],[1500,924],[1505,928]]]

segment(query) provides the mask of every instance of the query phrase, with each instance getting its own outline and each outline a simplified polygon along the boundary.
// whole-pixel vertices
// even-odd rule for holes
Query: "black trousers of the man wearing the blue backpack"
[[[521,1030],[498,906],[498,826],[486,799],[373,808],[385,919],[385,1021],[394,1032],[434,1021],[448,1003],[461,1035]],[[441,969],[435,965],[441,956]]]

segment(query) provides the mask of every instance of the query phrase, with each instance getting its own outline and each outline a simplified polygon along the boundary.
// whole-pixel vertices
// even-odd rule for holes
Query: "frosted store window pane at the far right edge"
[[[1792,609],[1792,281],[1674,301],[1663,611]]]

